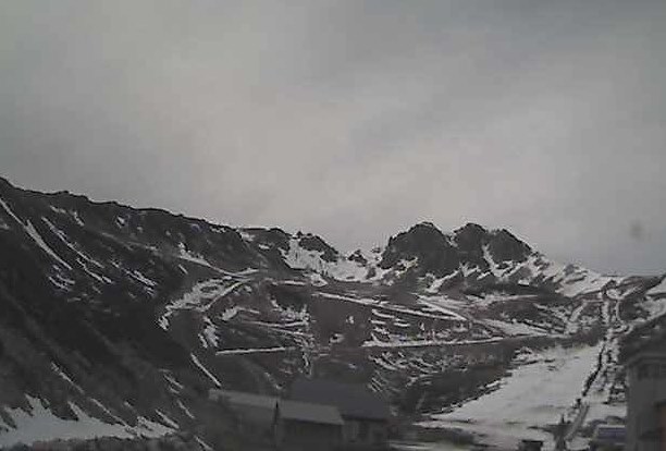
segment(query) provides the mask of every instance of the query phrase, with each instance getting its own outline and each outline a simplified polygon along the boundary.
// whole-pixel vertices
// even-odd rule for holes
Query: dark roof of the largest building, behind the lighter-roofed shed
[[[292,385],[289,399],[333,405],[343,417],[374,420],[386,420],[391,417],[388,404],[379,394],[360,385],[300,378]]]

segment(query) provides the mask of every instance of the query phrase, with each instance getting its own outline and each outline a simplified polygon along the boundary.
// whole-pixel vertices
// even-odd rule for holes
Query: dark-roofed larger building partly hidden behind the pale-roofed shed
[[[337,407],[344,420],[346,449],[385,449],[391,410],[388,403],[360,385],[319,379],[297,379],[288,398]]]

